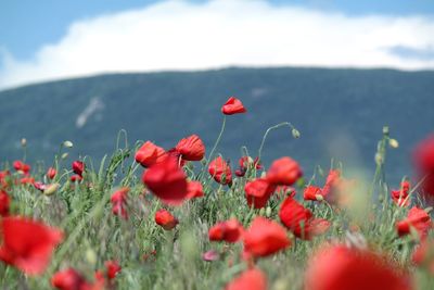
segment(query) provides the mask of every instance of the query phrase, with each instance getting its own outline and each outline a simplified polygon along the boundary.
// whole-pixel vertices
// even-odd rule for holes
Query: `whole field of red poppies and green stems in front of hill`
[[[0,288],[434,289],[434,137],[400,185],[385,182],[387,127],[370,180],[334,162],[304,176],[291,156],[260,163],[270,130],[301,137],[290,123],[252,156],[218,154],[226,119],[247,110],[231,97],[221,113],[210,150],[196,135],[166,150],[119,133],[101,164],[68,161],[65,141],[44,166],[26,164],[23,139],[0,171]]]

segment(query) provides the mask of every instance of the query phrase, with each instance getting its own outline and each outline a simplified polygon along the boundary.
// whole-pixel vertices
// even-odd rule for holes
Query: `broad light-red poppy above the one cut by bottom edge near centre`
[[[253,256],[267,256],[291,244],[285,229],[278,223],[258,216],[243,235],[244,250]]]

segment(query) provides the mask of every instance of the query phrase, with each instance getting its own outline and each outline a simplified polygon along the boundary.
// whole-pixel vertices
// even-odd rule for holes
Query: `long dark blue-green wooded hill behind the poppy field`
[[[434,131],[434,72],[326,68],[227,68],[192,73],[116,74],[0,91],[0,156],[51,163],[63,140],[73,156],[99,159],[115,147],[119,129],[131,144],[153,140],[171,148],[197,134],[209,148],[221,125],[221,104],[237,96],[247,114],[230,116],[219,151],[232,160],[247,146],[255,155],[265,130],[289,121],[302,133],[272,131],[264,161],[281,155],[307,173],[330,159],[372,166],[383,125],[400,147],[388,155],[394,179],[411,174],[410,153]],[[74,156],[75,154],[75,156]]]

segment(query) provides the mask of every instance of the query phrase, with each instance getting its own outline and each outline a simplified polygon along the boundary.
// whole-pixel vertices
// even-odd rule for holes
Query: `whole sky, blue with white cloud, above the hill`
[[[0,89],[233,65],[433,70],[434,1],[0,1]]]

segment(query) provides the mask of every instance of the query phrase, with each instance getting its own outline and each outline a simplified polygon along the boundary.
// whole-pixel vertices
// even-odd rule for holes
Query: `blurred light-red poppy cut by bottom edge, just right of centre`
[[[229,282],[225,290],[267,290],[267,276],[258,269],[252,268],[243,272]]]

